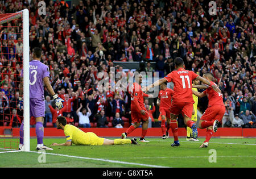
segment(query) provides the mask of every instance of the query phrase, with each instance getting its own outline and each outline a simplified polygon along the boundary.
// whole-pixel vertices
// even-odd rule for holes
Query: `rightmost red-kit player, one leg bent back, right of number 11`
[[[213,82],[214,76],[210,72],[206,72],[203,78],[210,81],[210,86],[216,85]],[[197,97],[203,98],[207,95],[209,102],[207,110],[201,116],[199,127],[207,128],[207,135],[205,137],[204,143],[200,146],[201,148],[208,147],[208,142],[212,138],[213,132],[217,131],[218,123],[221,121],[225,114],[225,105],[223,103],[222,94],[220,92],[214,91],[210,86],[207,85],[195,85],[194,88],[206,89],[202,93],[192,90],[193,94]]]

